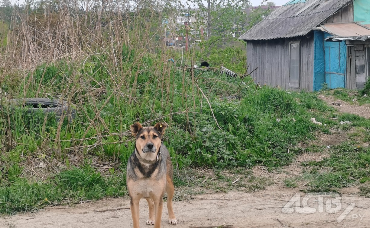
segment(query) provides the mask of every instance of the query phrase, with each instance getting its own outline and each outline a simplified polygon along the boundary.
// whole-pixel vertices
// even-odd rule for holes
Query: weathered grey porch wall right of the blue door
[[[355,74],[356,74],[356,88],[362,89],[365,82],[367,81],[366,76],[366,58],[365,58],[365,47],[370,46],[370,40],[367,41],[347,41],[348,46],[354,46],[354,59],[355,63]],[[370,63],[367,63],[370,64]],[[353,70],[353,69],[352,69]]]

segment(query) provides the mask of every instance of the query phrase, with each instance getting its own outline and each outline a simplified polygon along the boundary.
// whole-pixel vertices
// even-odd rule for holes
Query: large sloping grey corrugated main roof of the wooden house
[[[282,6],[239,39],[266,40],[306,35],[351,0],[307,0]]]

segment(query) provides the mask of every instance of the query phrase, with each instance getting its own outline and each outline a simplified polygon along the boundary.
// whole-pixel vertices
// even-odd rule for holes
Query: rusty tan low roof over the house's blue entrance
[[[322,31],[329,32],[335,37],[360,37],[370,36],[370,28],[356,22],[322,24]]]

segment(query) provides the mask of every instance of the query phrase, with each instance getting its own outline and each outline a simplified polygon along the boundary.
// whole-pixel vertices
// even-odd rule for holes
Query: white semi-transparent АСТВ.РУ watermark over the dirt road
[[[329,197],[329,198],[328,198]],[[302,199],[302,205],[301,205]],[[317,206],[309,206],[309,200],[317,201]],[[341,197],[336,193],[309,193],[301,197],[300,193],[296,193],[285,206],[282,208],[282,213],[323,213],[324,206],[327,213],[339,213],[342,209],[342,203],[340,203]],[[293,206],[294,204],[294,206]],[[316,204],[316,203],[315,203]],[[343,219],[352,211],[355,207],[355,203],[350,203],[343,212],[337,218],[337,222],[342,222]],[[316,209],[317,208],[317,209]],[[352,215],[352,221],[359,218],[361,221],[364,218],[363,215]]]

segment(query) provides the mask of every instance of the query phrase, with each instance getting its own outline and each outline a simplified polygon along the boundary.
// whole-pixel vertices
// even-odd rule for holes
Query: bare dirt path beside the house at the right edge
[[[325,101],[329,106],[336,108],[341,113],[351,113],[365,118],[370,118],[370,105],[368,104],[359,106],[357,103],[350,104],[345,101],[340,101],[340,106],[338,106],[333,105],[333,103],[338,100],[333,96],[319,95],[318,97],[319,99]]]

